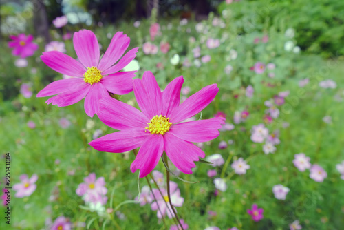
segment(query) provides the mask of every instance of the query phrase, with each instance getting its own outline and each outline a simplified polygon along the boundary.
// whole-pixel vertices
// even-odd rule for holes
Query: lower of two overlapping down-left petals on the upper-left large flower
[[[52,105],[58,105],[58,107],[73,105],[78,101],[81,101],[81,99],[87,95],[91,88],[90,86],[91,85],[89,85],[89,83],[80,83],[68,91],[47,99],[46,103],[52,103]]]

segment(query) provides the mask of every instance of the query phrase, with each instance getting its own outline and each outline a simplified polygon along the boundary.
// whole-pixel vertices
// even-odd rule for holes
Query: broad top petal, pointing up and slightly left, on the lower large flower
[[[142,80],[135,79],[133,88],[138,106],[144,115],[153,118],[161,114],[162,94],[152,72],[144,72]]]

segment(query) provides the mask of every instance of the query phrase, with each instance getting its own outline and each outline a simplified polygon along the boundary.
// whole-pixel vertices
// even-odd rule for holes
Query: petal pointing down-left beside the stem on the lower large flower
[[[164,138],[162,138],[162,135],[149,136],[140,147],[135,160],[131,163],[131,172],[134,173],[137,169],[140,169],[140,178],[147,176],[158,164],[163,151]]]

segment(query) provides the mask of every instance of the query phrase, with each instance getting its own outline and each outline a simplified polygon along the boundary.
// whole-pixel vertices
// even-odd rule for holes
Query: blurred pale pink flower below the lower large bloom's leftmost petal
[[[96,179],[96,174],[92,173],[84,178],[84,183],[78,185],[76,194],[83,196],[85,202],[91,202],[96,205],[100,202],[101,205],[105,205],[107,202],[107,188],[105,187],[105,180],[102,177]]]

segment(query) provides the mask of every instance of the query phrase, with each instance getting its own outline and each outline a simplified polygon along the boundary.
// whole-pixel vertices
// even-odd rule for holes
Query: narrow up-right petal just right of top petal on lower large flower
[[[169,117],[169,114],[180,104],[180,90],[184,83],[183,76],[173,79],[162,92],[162,115]]]

